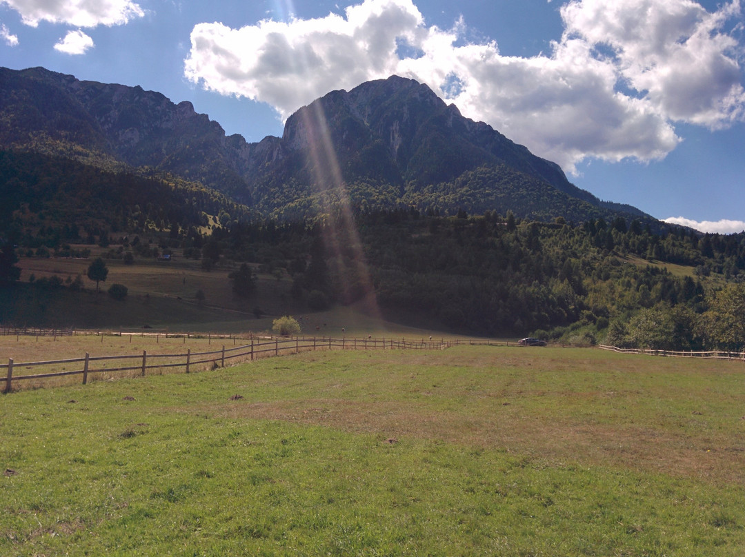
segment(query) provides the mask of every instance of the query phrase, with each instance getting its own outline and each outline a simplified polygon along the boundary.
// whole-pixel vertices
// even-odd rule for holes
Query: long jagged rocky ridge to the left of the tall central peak
[[[43,68],[0,69],[0,118],[5,148],[150,167],[244,197],[248,162],[261,150],[188,101]]]

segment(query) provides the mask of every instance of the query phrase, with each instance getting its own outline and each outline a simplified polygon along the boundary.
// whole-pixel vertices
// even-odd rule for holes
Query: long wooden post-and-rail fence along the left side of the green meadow
[[[83,385],[88,383],[91,375],[113,372],[136,372],[137,375],[145,376],[148,369],[183,368],[189,373],[194,366],[207,364],[214,368],[225,367],[225,363],[242,358],[254,360],[259,357],[279,356],[280,354],[297,354],[299,351],[311,351],[334,348],[340,350],[440,350],[463,343],[478,343],[480,341],[462,340],[405,340],[405,339],[335,339],[326,338],[261,338],[251,339],[250,344],[226,348],[224,345],[220,350],[192,352],[188,349],[186,353],[180,354],[142,354],[123,356],[98,356],[91,357],[86,352],[84,357],[70,360],[48,360],[42,362],[16,363],[13,358],[7,363],[0,364],[0,382],[4,382],[3,392],[13,390],[14,381],[36,380],[46,378],[59,378],[69,375],[82,375]],[[486,342],[484,342],[486,344]],[[75,369],[68,370],[68,366]],[[60,371],[60,368],[62,369]],[[40,373],[26,375],[14,375],[18,369],[40,369]]]

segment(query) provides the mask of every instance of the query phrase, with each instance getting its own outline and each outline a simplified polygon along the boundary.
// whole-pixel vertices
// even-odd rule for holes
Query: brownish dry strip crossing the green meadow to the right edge
[[[651,427],[558,423],[507,410],[475,418],[417,410],[398,402],[316,399],[253,403],[221,410],[230,418],[285,420],[374,433],[387,442],[416,437],[501,448],[557,463],[612,465],[745,486],[745,440],[675,435]],[[393,441],[390,441],[393,439]]]

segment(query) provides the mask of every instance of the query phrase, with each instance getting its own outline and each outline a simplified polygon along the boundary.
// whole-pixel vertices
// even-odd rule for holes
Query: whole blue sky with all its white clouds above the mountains
[[[739,0],[0,0],[0,65],[139,85],[248,141],[400,74],[603,200],[745,229]]]

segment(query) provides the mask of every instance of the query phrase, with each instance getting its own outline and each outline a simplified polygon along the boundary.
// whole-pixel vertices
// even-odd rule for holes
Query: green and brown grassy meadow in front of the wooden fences
[[[741,362],[313,352],[0,398],[0,554],[741,556]]]

